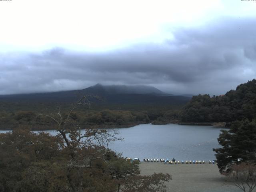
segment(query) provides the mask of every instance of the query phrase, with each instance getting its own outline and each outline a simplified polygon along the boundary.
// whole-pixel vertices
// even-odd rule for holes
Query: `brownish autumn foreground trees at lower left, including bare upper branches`
[[[16,128],[0,134],[1,192],[164,192],[169,174],[140,176],[138,165],[108,148],[112,130],[81,130],[72,114],[89,104],[83,97],[66,115],[42,114],[56,124],[57,135]]]

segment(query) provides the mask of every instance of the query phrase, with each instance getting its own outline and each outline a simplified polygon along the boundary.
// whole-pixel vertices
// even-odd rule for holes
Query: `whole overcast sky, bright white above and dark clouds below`
[[[0,0],[0,18],[0,94],[220,95],[256,78],[256,0]]]

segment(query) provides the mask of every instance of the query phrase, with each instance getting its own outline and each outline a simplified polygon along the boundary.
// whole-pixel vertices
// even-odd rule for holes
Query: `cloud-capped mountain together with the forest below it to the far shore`
[[[74,102],[89,95],[90,107],[79,106],[72,113],[72,118],[84,128],[120,128],[159,121],[190,100],[189,96],[173,96],[151,86],[101,84],[83,90],[2,95],[0,128],[26,125],[32,130],[54,129],[52,120],[40,114],[57,114],[59,109],[65,114]]]

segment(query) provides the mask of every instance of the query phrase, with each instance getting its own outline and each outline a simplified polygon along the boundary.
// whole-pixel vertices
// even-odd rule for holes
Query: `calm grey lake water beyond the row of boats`
[[[130,158],[176,158],[176,160],[214,160],[212,148],[218,145],[221,128],[190,125],[142,124],[120,128],[119,136],[124,141],[110,144],[116,152]],[[0,131],[6,132],[6,131]],[[54,130],[46,131],[55,135]]]

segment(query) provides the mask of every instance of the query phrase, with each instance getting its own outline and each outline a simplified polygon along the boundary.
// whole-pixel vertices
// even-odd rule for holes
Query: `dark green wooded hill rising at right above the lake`
[[[180,113],[182,122],[233,122],[256,117],[256,80],[240,84],[225,95],[198,95]]]

